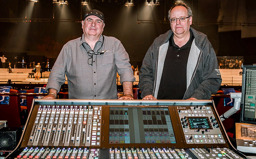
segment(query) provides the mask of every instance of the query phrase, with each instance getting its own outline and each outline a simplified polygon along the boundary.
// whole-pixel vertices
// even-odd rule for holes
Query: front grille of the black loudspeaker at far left
[[[16,147],[16,132],[0,133],[0,151],[12,151]]]

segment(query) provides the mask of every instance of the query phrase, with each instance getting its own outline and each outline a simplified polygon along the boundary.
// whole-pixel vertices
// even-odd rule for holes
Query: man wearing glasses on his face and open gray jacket
[[[184,3],[168,13],[171,29],[148,49],[139,73],[143,99],[210,99],[221,84],[216,54],[207,36],[191,28]]]

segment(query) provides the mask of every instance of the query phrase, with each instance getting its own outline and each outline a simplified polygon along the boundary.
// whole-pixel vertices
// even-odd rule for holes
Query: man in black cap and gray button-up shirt
[[[128,53],[119,40],[102,35],[104,26],[102,12],[85,13],[84,34],[63,46],[49,76],[45,99],[56,98],[65,75],[70,99],[117,99],[116,72],[124,88],[119,99],[133,99],[135,77]]]

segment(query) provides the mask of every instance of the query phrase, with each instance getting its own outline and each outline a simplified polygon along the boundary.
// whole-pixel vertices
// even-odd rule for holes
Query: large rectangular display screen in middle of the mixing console
[[[110,107],[109,143],[176,143],[168,108]]]

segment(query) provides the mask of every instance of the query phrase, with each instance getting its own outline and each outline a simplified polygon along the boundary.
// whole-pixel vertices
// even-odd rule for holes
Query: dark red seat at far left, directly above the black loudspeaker
[[[10,89],[10,93],[19,93]],[[9,127],[20,127],[20,96],[10,96],[9,104],[0,104],[0,120],[7,120]]]

